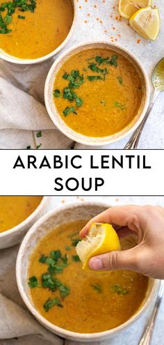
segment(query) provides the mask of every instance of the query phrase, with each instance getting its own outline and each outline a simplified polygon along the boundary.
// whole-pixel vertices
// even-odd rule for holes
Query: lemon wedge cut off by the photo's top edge
[[[118,9],[122,17],[130,19],[137,10],[151,5],[152,0],[120,0]]]

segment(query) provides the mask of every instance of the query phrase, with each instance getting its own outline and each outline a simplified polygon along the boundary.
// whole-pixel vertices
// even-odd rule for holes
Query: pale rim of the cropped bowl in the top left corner
[[[36,63],[42,63],[44,61],[47,61],[51,59],[53,56],[56,56],[58,53],[60,53],[61,50],[67,45],[68,41],[70,38],[72,38],[72,35],[74,33],[76,24],[77,24],[77,19],[78,19],[78,5],[76,3],[76,0],[72,0],[72,5],[74,9],[74,19],[72,22],[71,29],[69,30],[69,33],[67,34],[65,40],[63,40],[63,43],[61,43],[56,49],[54,49],[52,52],[50,52],[47,55],[41,56],[40,58],[36,59],[20,59],[17,58],[14,55],[7,54],[3,49],[0,49],[0,59],[4,61],[8,61],[10,63],[15,63],[17,65],[34,65]]]

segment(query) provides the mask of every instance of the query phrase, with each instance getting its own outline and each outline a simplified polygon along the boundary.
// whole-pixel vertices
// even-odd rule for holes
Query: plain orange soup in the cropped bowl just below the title
[[[42,197],[0,197],[0,233],[26,220]]]

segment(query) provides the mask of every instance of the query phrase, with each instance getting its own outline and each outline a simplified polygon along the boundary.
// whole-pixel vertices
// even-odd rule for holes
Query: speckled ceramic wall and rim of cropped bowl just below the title
[[[17,245],[24,238],[25,233],[32,227],[32,225],[45,215],[49,210],[50,197],[43,197],[39,206],[35,208],[34,212],[29,215],[22,223],[16,227],[0,233],[0,250],[13,245]]]

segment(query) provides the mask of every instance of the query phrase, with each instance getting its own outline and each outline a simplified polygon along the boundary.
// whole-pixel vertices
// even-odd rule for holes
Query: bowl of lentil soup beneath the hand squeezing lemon
[[[28,231],[17,257],[17,284],[32,314],[51,332],[82,342],[113,337],[136,321],[158,293],[158,282],[138,273],[82,270],[79,231],[108,206],[69,204]],[[122,250],[136,239],[121,240]],[[26,253],[26,255],[25,255]]]

